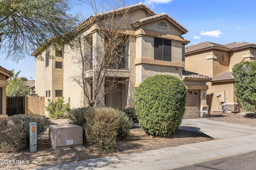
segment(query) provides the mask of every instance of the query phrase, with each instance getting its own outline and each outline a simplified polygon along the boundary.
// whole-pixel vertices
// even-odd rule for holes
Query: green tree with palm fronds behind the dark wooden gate
[[[14,69],[10,70],[13,73],[8,80],[6,87],[6,96],[25,96],[30,93],[27,86],[28,79],[26,77],[18,77],[21,71],[14,74]]]

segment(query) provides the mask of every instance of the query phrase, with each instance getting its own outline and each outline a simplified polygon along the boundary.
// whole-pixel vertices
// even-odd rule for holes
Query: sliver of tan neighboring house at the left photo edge
[[[0,66],[0,118],[8,117],[6,115],[6,86],[10,76],[12,76],[12,72]]]

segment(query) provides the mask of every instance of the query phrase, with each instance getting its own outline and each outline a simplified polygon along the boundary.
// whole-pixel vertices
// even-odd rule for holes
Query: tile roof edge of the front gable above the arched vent
[[[174,25],[176,25],[177,27],[179,27],[184,33],[187,33],[188,30],[183,27],[180,23],[178,23],[176,20],[174,20],[172,17],[168,16],[168,14],[166,13],[162,13],[162,14],[158,14],[158,15],[154,15],[154,16],[150,16],[150,17],[147,17],[147,18],[142,18],[138,21],[135,21],[132,23],[132,26],[134,28],[136,27],[139,27],[140,25],[144,24],[144,23],[148,23],[150,21],[153,21],[153,20],[158,20],[158,19],[161,19],[161,18],[167,18],[168,20],[170,20],[172,23],[174,23]]]

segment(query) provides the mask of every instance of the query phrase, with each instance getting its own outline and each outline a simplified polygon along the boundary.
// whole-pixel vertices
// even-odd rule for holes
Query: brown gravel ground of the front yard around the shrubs
[[[218,121],[256,125],[256,119],[252,117],[252,115],[224,113],[212,114],[207,116],[207,118]],[[51,125],[66,123],[68,123],[67,119],[51,120]],[[66,164],[80,160],[130,154],[133,152],[175,147],[209,140],[213,139],[206,137],[201,133],[194,133],[181,129],[172,137],[165,138],[148,136],[141,128],[133,128],[131,129],[128,138],[123,141],[117,141],[116,147],[110,153],[100,153],[97,149],[86,143],[83,148],[54,151],[48,147],[47,129],[44,135],[38,138],[37,152],[30,153],[29,150],[24,150],[19,153],[0,153],[0,170],[27,170],[42,166]],[[19,162],[16,163],[16,160]],[[14,162],[16,164],[14,164]]]

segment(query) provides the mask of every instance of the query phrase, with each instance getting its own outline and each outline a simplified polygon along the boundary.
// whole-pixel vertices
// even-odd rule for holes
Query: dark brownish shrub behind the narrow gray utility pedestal
[[[28,148],[29,123],[37,123],[37,135],[40,136],[50,124],[49,118],[36,114],[20,114],[0,120],[0,151],[18,152]]]

